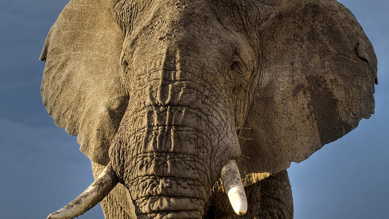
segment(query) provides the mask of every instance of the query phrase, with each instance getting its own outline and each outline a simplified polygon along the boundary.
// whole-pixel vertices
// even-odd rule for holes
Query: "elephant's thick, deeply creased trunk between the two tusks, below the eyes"
[[[185,94],[182,102],[189,100]],[[240,153],[231,116],[195,104],[204,98],[193,94],[186,104],[150,99],[128,106],[110,160],[139,219],[201,219],[221,168]]]

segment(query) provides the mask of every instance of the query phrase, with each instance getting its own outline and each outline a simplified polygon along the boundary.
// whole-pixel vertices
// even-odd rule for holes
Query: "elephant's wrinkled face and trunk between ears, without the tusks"
[[[240,155],[236,127],[244,124],[251,84],[257,83],[258,55],[233,21],[217,21],[213,7],[152,5],[152,12],[140,11],[131,21],[140,25],[124,39],[122,81],[133,104],[110,161],[139,214],[175,209],[201,217],[221,168]],[[172,204],[155,204],[166,199]]]

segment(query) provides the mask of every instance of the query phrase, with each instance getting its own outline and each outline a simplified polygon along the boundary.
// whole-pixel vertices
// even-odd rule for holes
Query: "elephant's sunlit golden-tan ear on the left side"
[[[40,57],[46,60],[40,90],[49,115],[78,134],[80,150],[102,165],[128,104],[120,74],[124,34],[107,2],[70,1]]]

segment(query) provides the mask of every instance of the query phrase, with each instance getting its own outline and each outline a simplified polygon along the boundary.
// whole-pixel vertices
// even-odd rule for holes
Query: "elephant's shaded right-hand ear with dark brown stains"
[[[333,0],[289,6],[261,24],[265,55],[245,122],[252,129],[240,133],[254,140],[241,139],[237,161],[245,185],[307,159],[374,113],[377,59],[356,18]]]

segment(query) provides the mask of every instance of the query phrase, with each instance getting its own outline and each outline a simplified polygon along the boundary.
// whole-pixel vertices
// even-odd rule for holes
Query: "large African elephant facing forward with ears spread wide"
[[[290,163],[374,113],[377,58],[335,0],[71,0],[40,60],[96,179],[48,218],[293,218]]]

